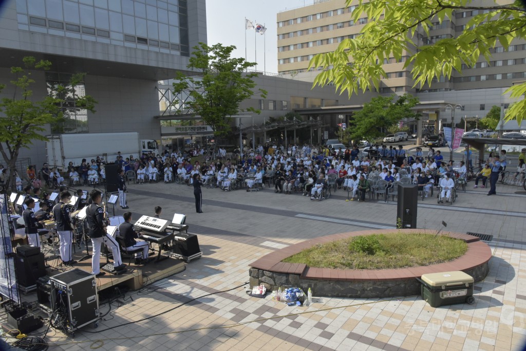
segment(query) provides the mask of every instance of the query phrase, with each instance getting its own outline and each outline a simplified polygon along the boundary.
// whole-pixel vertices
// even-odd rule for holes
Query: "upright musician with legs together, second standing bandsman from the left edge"
[[[60,258],[65,265],[73,265],[77,261],[72,260],[72,224],[69,216],[69,207],[66,203],[71,200],[71,194],[67,191],[60,193],[60,202],[53,207],[53,217],[57,228],[58,238],[60,239]]]

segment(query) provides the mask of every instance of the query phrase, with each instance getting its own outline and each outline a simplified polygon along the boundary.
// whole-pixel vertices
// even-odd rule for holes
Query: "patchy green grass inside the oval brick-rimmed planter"
[[[356,236],[318,244],[282,262],[337,269],[390,269],[448,262],[466,253],[468,244],[445,235]]]

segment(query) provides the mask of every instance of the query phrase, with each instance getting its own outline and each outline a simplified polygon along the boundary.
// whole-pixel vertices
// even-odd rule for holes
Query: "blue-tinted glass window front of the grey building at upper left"
[[[189,56],[186,0],[16,0],[18,29]]]

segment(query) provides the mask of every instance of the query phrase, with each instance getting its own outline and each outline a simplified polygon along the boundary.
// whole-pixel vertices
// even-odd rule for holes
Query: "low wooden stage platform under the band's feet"
[[[74,260],[79,260],[85,256],[86,252],[78,252],[73,254]],[[168,253],[166,253],[168,254]],[[150,256],[151,259],[155,259],[156,256]],[[82,262],[77,262],[72,266],[59,266],[62,261],[60,258],[49,259],[47,264],[51,268],[47,268],[47,273],[49,276],[54,276],[59,273],[66,272],[67,270],[73,268],[79,268],[85,270],[86,272],[92,271],[92,256],[89,256],[86,260]],[[113,263],[113,260],[110,259],[110,263]],[[128,265],[128,258],[123,257],[123,263],[127,266],[127,270],[123,274],[111,274],[106,272],[105,275],[97,278],[98,291],[113,287],[117,284],[122,284],[127,286],[131,290],[137,290],[145,285],[157,282],[157,280],[166,278],[170,275],[183,272],[186,269],[185,263],[180,259],[176,258],[167,258],[159,262],[152,260],[146,265],[135,265],[134,259],[131,259],[131,264]],[[106,257],[100,257],[100,266],[106,264]]]

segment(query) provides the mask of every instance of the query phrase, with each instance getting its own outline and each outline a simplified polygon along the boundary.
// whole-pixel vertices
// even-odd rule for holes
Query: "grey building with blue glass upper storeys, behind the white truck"
[[[185,71],[191,48],[207,41],[205,0],[7,0],[0,5],[0,81],[24,56],[53,63],[35,72],[35,98],[47,85],[86,73],[77,93],[93,96],[96,113],[78,111],[50,132],[139,132],[160,139],[158,81]],[[13,96],[8,86],[2,96]],[[22,158],[45,160],[35,142]]]

